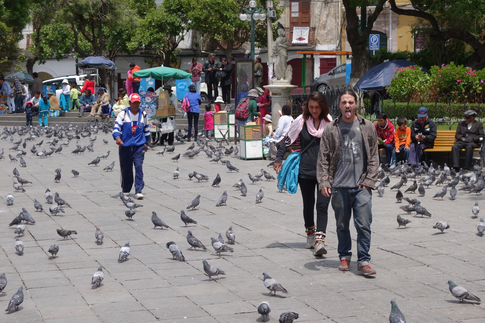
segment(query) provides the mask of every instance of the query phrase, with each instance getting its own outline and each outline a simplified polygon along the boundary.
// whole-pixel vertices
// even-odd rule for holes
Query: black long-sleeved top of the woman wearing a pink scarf
[[[300,147],[305,149],[310,141],[314,138],[307,129],[307,123],[303,124],[302,131],[299,135]],[[283,155],[286,153],[286,147],[291,144],[290,138],[285,136],[281,141],[281,145],[276,153],[275,162],[281,163],[283,161]],[[300,168],[298,169],[298,177],[307,179],[317,179],[317,159],[318,153],[320,152],[320,138],[315,138],[315,141],[311,144],[308,149],[303,152],[300,159]]]

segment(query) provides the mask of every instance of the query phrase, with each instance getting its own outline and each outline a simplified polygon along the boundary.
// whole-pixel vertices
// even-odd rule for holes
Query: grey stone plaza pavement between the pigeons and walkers
[[[18,136],[14,138],[16,141]],[[109,144],[103,144],[103,138]],[[41,149],[49,149],[46,142],[44,139]],[[81,140],[82,145],[88,143],[89,138]],[[111,135],[97,135],[95,153],[86,150],[81,155],[69,154],[75,141],[62,154],[48,158],[28,152],[24,156],[27,168],[10,162],[11,146],[9,141],[0,141],[7,157],[0,160],[0,272],[8,280],[6,294],[0,295],[0,322],[251,323],[260,322],[257,306],[268,301],[272,308],[269,322],[277,322],[282,312],[294,311],[300,314],[295,322],[386,323],[391,299],[396,300],[407,323],[485,322],[484,304],[456,304],[447,284],[452,279],[485,298],[485,237],[477,235],[479,219],[471,218],[476,200],[485,214],[482,195],[459,191],[456,200],[449,200],[448,195],[438,201],[432,196],[439,188],[432,186],[425,197],[419,198],[432,217],[403,215],[412,222],[407,229],[396,229],[396,215],[403,213],[399,212],[399,206],[405,202],[396,203],[396,192],[389,187],[397,179],[392,178],[383,198],[377,197],[376,192],[372,197],[371,265],[377,275],[363,277],[356,272],[356,258],[350,272],[337,270],[337,236],[331,207],[326,238],[328,254],[316,258],[311,250],[305,249],[300,191],[294,195],[279,193],[275,181],[250,185],[248,172],[254,175],[263,168],[275,174],[266,167],[268,161],[244,161],[239,156],[230,156],[227,159],[240,169],[240,173],[230,173],[220,163],[209,163],[203,152],[194,159],[170,160],[171,156],[185,152],[189,144],[176,144],[175,154],[164,156],[156,155],[159,149],[150,150],[144,164],[145,200],[140,201],[144,206],[129,221],[124,214],[127,208],[118,198],[119,161]],[[102,159],[99,166],[87,166],[108,150],[110,156]],[[114,170],[103,171],[113,160]],[[20,177],[33,182],[25,185],[25,193],[14,192],[14,167]],[[172,173],[176,167],[180,177],[174,180]],[[54,183],[56,168],[62,169],[59,184]],[[74,178],[71,169],[78,170],[80,176]],[[208,175],[209,182],[189,181],[187,174],[194,170]],[[211,187],[217,173],[222,178],[221,187]],[[247,197],[232,187],[240,178],[248,187]],[[60,216],[34,212],[33,199],[39,200],[49,212],[50,205],[44,198],[47,187],[52,194],[59,192],[72,208],[65,208],[65,214]],[[259,187],[263,188],[264,198],[256,204]],[[227,206],[215,207],[224,190],[228,195]],[[15,198],[10,207],[4,203],[8,193]],[[131,193],[133,197],[134,190]],[[196,211],[186,210],[186,214],[198,224],[184,228],[180,210],[185,210],[197,194],[201,195],[200,205]],[[19,256],[14,248],[15,226],[9,228],[8,223],[22,207],[36,223],[26,225],[25,236],[21,237],[25,251]],[[152,211],[170,229],[152,230]],[[433,229],[438,220],[447,221],[451,229],[445,234]],[[218,232],[224,237],[231,225],[236,233],[234,252],[218,257],[210,237],[217,237]],[[96,226],[104,232],[102,245],[95,243]],[[58,228],[76,230],[78,234],[62,241],[56,232]],[[192,230],[208,251],[187,250],[187,230]],[[353,228],[351,232],[355,239]],[[128,240],[129,261],[118,263],[119,248]],[[186,262],[171,260],[165,247],[169,241],[180,246]],[[53,244],[59,245],[58,258],[49,259],[47,250]],[[355,240],[352,251],[356,255]],[[226,275],[207,282],[203,260]],[[91,277],[99,265],[106,276],[96,288],[91,285]],[[263,271],[289,293],[269,296],[261,280]],[[4,312],[18,286],[24,287],[25,296],[20,310]]]

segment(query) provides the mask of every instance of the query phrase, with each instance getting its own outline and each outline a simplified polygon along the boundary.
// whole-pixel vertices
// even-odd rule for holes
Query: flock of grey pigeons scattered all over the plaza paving
[[[84,151],[87,149],[89,152],[94,152],[94,142],[96,141],[97,137],[92,138],[92,135],[96,135],[97,132],[102,129],[103,132],[108,134],[110,130],[112,130],[113,123],[107,123],[103,124],[102,126],[98,126],[96,122],[91,122],[88,125],[81,127],[81,126],[73,126],[71,124],[64,124],[63,126],[56,124],[54,126],[48,126],[48,127],[37,127],[37,128],[26,128],[26,127],[14,127],[13,129],[7,129],[5,127],[3,129],[3,132],[1,135],[3,137],[1,139],[7,139],[10,136],[11,142],[14,141],[13,135],[17,133],[19,136],[27,136],[26,138],[20,139],[15,143],[15,146],[13,146],[11,149],[16,150],[17,153],[15,156],[12,156],[9,154],[10,160],[12,162],[17,161],[17,157],[20,159],[20,166],[21,167],[27,167],[25,160],[23,160],[22,155],[25,155],[26,152],[24,152],[22,149],[18,149],[19,145],[23,142],[23,148],[26,147],[26,142],[35,140],[36,138],[39,138],[41,136],[44,136],[45,138],[53,138],[51,139],[49,143],[49,148],[50,151],[46,151],[45,149],[42,152],[37,152],[36,148],[39,148],[43,145],[43,141],[41,140],[38,143],[34,144],[32,146],[31,152],[32,154],[38,156],[39,158],[45,158],[51,156],[53,153],[61,153],[63,147],[66,147],[69,145],[69,142],[73,139],[81,140],[81,138],[90,138],[90,144],[87,146],[82,146],[79,143],[79,141],[76,142],[76,149],[71,152],[71,154],[81,154],[84,153]],[[187,132],[187,131],[186,131]],[[216,164],[221,162],[221,164],[225,164],[227,168],[227,172],[239,172],[239,169],[232,165],[228,160],[226,160],[224,157],[227,157],[229,155],[237,155],[239,153],[238,147],[229,147],[225,148],[223,146],[223,141],[222,140],[216,140],[217,145],[214,147],[212,144],[209,142],[211,141],[209,138],[206,138],[203,132],[199,132],[198,134],[198,139],[196,142],[193,142],[188,148],[187,151],[182,154],[178,154],[174,157],[171,158],[174,162],[178,162],[180,159],[180,156],[183,156],[184,158],[189,158],[192,159],[196,157],[201,151],[204,152],[208,158],[210,159],[211,162],[215,162]],[[58,141],[60,139],[67,138],[67,141],[64,142],[63,144],[58,145],[56,148]],[[187,136],[182,136],[181,130],[178,131],[176,135],[176,139],[184,143],[185,139],[190,138]],[[103,142],[106,144],[108,143],[108,140],[102,139]],[[195,149],[195,144],[197,144],[197,148]],[[149,145],[151,149],[154,149],[155,146],[150,144]],[[182,146],[177,146],[177,148],[180,148]],[[162,155],[164,153],[169,153],[173,154],[175,152],[176,146],[170,147],[169,145],[165,145],[163,151],[158,152],[158,155]],[[100,162],[101,158],[107,158],[110,154],[110,151],[108,151],[106,154],[103,154],[101,156],[98,156],[95,158],[93,161],[91,161],[88,165],[94,165],[97,166],[98,163]],[[3,149],[0,151],[0,159],[3,157]],[[268,165],[268,167],[272,166],[272,163]],[[113,170],[114,167],[114,161],[110,165],[108,165],[105,170]],[[483,175],[480,171],[480,168],[478,166],[475,166],[475,171],[467,172],[467,171],[462,171],[457,174],[453,169],[450,169],[446,166],[443,170],[437,165],[430,165],[428,166],[426,163],[422,163],[422,165],[419,165],[418,168],[412,169],[410,168],[406,163],[399,163],[398,165],[394,165],[392,167],[388,167],[386,165],[379,166],[379,178],[381,180],[380,184],[376,187],[377,192],[380,197],[383,196],[385,192],[385,187],[390,183],[390,176],[396,176],[400,178],[400,181],[396,184],[393,185],[390,189],[397,189],[397,194],[396,194],[396,199],[398,202],[401,202],[402,200],[406,200],[409,205],[402,206],[401,209],[403,209],[405,212],[410,214],[411,212],[416,212],[416,215],[423,215],[431,217],[431,214],[423,207],[421,206],[421,203],[419,200],[411,197],[404,197],[403,193],[401,192],[402,186],[405,186],[408,180],[413,181],[413,184],[410,185],[404,193],[415,193],[416,190],[420,193],[419,197],[422,197],[426,194],[426,190],[424,187],[428,187],[432,185],[435,180],[437,179],[435,185],[443,185],[443,188],[439,190],[434,198],[441,198],[446,196],[447,194],[447,188],[451,187],[450,190],[450,196],[451,199],[455,199],[457,196],[457,189],[455,188],[456,185],[460,181],[464,184],[462,188],[459,188],[458,190],[463,190],[464,192],[468,192],[469,194],[471,193],[476,193],[476,194],[481,194],[480,192],[484,189],[485,184],[484,184],[484,179],[485,175]],[[59,183],[61,181],[61,172],[62,170],[56,169],[55,170],[55,176],[54,176],[54,181]],[[74,177],[80,176],[80,172],[72,169],[71,172],[73,173]],[[24,185],[26,184],[32,184],[32,182],[22,179],[20,177],[19,171],[15,168],[13,170],[13,174],[16,178],[16,181],[14,181],[14,188],[17,192],[25,192]],[[268,173],[264,169],[260,169],[260,171],[256,175],[252,175],[251,173],[248,173],[248,178],[251,181],[251,184],[258,184],[259,181],[263,181],[264,179],[266,181],[273,181],[276,180],[273,175]],[[180,176],[179,169],[177,168],[173,172],[173,179],[176,180]],[[209,177],[198,173],[196,171],[193,171],[188,174],[189,180],[197,180],[198,183],[200,182],[209,182]],[[264,179],[263,179],[264,177]],[[418,182],[420,185],[418,186]],[[445,184],[446,182],[446,184]],[[220,173],[217,173],[215,179],[212,182],[212,186],[219,187],[221,184],[221,176]],[[241,192],[242,197],[247,196],[248,192],[248,187],[244,184],[242,178],[234,185],[237,190]],[[285,188],[283,188],[285,189]],[[280,191],[281,192],[281,191]],[[122,201],[123,205],[127,207],[127,211],[125,212],[125,215],[128,217],[129,220],[132,220],[132,217],[136,214],[136,209],[139,207],[143,207],[141,204],[137,204],[135,201],[131,200],[129,196],[124,195],[122,192],[119,193],[120,200]],[[197,210],[197,206],[200,204],[200,195],[197,195],[194,200],[192,200],[190,203],[188,203],[186,210]],[[256,193],[256,203],[260,203],[264,197],[264,193],[262,191],[262,188],[259,187],[259,191]],[[65,200],[63,200],[58,192],[55,192],[54,195],[52,195],[51,191],[49,188],[47,188],[45,192],[45,199],[48,204],[53,204],[55,202],[57,205],[52,205],[49,207],[49,213],[50,215],[57,215],[58,213],[64,213],[64,208],[65,207],[71,207],[69,203],[67,203]],[[7,205],[14,205],[14,196],[12,194],[8,194],[6,196],[6,202]],[[222,196],[219,198],[219,200],[216,203],[216,206],[224,206],[227,205],[227,191],[224,190]],[[38,200],[34,200],[34,208],[37,212],[46,212],[42,206],[42,204]],[[472,208],[473,216],[477,217],[478,213],[480,212],[480,207],[478,206],[478,202],[475,203],[475,206]],[[157,229],[157,227],[160,227],[161,230],[163,228],[170,228],[158,215],[155,211],[152,212],[151,216],[152,223],[154,227],[152,229]],[[187,227],[188,225],[197,225],[197,221],[189,217],[188,215],[185,214],[185,210],[180,211],[180,220],[182,223],[184,223],[184,227]],[[399,224],[399,227],[404,226],[404,228],[407,228],[407,225],[411,222],[408,219],[402,218],[400,215],[397,216],[397,221]],[[9,224],[9,226],[16,226],[14,233],[17,234],[16,236],[16,241],[15,241],[15,249],[17,251],[18,255],[22,255],[24,252],[24,245],[23,242],[19,239],[25,232],[26,230],[26,224],[31,223],[34,224],[35,221],[32,217],[32,215],[29,214],[29,212],[26,210],[26,208],[22,208],[22,212]],[[445,221],[438,221],[434,228],[439,229],[441,232],[443,232],[446,229],[449,229],[450,226],[448,223]],[[483,219],[480,219],[480,223],[477,226],[478,232],[480,234],[483,234],[485,231],[485,222]],[[77,231],[75,230],[65,230],[65,229],[57,229],[57,233],[63,237],[63,240],[65,240],[67,237],[71,237],[72,234],[78,234]],[[444,233],[444,232],[443,232]],[[210,238],[210,244],[212,245],[212,248],[214,249],[214,252],[217,256],[221,257],[224,253],[226,252],[237,252],[237,248],[228,246],[232,245],[234,246],[236,244],[236,234],[232,229],[232,226],[226,231],[226,239],[227,242],[224,240],[222,233],[219,233],[217,238],[211,237]],[[96,227],[95,230],[95,238],[96,238],[96,243],[102,244],[103,243],[103,238],[104,234],[100,230],[99,227]],[[191,230],[187,231],[187,243],[190,246],[189,250],[194,248],[194,251],[199,250],[207,250],[208,248],[204,246],[204,244],[197,239]],[[180,247],[173,241],[167,242],[166,243],[166,248],[170,251],[172,254],[172,260],[176,261],[186,261],[186,258],[182,254],[182,251]],[[49,258],[56,258],[57,254],[59,252],[60,247],[58,245],[52,245],[49,247],[48,253],[50,253]],[[123,263],[124,261],[127,261],[130,255],[130,246],[129,246],[129,241],[125,243],[124,246],[120,248],[119,255],[118,255],[118,262]],[[208,261],[204,260],[202,261],[203,264],[203,269],[206,275],[209,277],[207,281],[216,281],[215,277],[217,277],[217,280],[219,280],[220,275],[226,275],[226,272],[223,269],[217,268],[215,266],[212,266],[208,263]],[[275,295],[276,292],[283,292],[283,293],[288,293],[288,291],[281,285],[279,284],[274,278],[270,277],[266,272],[262,273],[263,276],[263,283],[264,286],[270,291],[270,295]],[[104,272],[103,272],[103,267],[102,265],[97,268],[97,271],[93,274],[91,283],[93,285],[96,285],[97,287],[101,286],[101,283],[104,279]],[[453,281],[448,281],[450,292],[453,294],[454,297],[456,297],[460,302],[463,302],[464,300],[473,300],[473,301],[480,301],[478,297],[473,295],[472,293],[468,292],[466,289],[464,289],[461,286],[458,286],[453,283]],[[5,277],[5,274],[0,275],[0,292],[3,292],[3,290],[7,286],[7,280]],[[6,311],[9,311],[11,309],[18,310],[18,306],[23,302],[23,292],[22,292],[22,286],[18,288],[18,291],[13,294],[9,305],[6,309]],[[262,321],[265,322],[267,319],[269,319],[269,314],[271,312],[271,306],[268,302],[262,302],[259,304],[257,311],[260,315],[262,315]],[[299,318],[299,315],[294,312],[284,312],[280,314],[279,317],[279,322],[280,323],[291,323],[293,320],[296,320]],[[390,323],[405,323],[405,318],[403,313],[399,310],[396,302],[394,300],[391,300],[391,313],[389,315],[389,322]]]

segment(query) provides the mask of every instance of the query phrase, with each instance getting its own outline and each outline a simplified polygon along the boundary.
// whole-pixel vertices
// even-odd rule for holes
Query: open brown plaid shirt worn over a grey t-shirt
[[[367,152],[367,169],[360,177],[359,183],[374,188],[377,181],[377,169],[379,167],[379,150],[377,149],[377,134],[375,127],[367,119],[357,114],[360,124],[360,131],[364,139],[364,146]],[[340,154],[340,129],[339,121],[341,115],[328,123],[323,130],[322,140],[320,141],[320,153],[317,161],[317,181],[318,187],[330,187],[333,183],[335,171],[339,163]]]

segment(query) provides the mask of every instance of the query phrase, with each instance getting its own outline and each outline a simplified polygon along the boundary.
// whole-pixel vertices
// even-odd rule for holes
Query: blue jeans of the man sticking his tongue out
[[[368,265],[371,260],[372,191],[358,187],[333,187],[332,208],[337,220],[340,260],[350,261],[352,258],[349,223],[353,212],[357,230],[357,262],[360,266]]]

